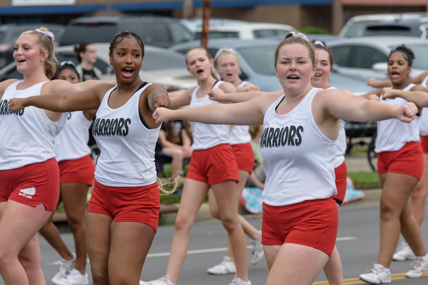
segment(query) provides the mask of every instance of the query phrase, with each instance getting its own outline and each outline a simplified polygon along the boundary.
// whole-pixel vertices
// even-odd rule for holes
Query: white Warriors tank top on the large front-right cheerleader
[[[282,95],[265,114],[260,141],[266,173],[265,204],[284,206],[337,194],[337,140],[321,132],[311,111],[312,99],[320,89],[312,88],[293,110],[278,115],[275,108],[284,99]]]

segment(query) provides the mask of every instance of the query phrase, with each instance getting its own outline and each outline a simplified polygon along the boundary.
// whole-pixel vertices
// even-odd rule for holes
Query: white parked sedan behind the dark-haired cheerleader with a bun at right
[[[391,50],[405,44],[415,54],[410,76],[428,70],[428,41],[413,37],[358,37],[329,41],[335,60],[334,69],[348,76],[363,80],[375,77],[387,79],[387,59]]]

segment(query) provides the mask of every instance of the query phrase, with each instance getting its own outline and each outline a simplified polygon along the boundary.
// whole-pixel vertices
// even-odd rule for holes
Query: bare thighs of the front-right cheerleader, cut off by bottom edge
[[[275,248],[266,250],[267,247]],[[277,245],[264,248],[266,261],[272,263],[266,285],[312,285],[329,258],[327,253],[301,244],[282,244],[276,257],[273,255]]]

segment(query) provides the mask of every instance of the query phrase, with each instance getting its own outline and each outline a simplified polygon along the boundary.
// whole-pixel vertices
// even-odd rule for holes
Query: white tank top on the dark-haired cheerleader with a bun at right
[[[403,91],[409,91],[416,84],[410,83]],[[380,100],[387,104],[402,106],[407,103],[402,98]],[[377,122],[377,137],[375,142],[375,152],[398,151],[408,142],[418,142],[419,135],[419,116],[411,123],[401,122],[399,119],[392,118]]]

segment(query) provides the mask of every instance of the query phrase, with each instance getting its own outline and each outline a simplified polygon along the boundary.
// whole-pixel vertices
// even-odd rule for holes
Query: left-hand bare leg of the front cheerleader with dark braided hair
[[[86,244],[93,285],[110,284],[108,260],[110,253],[110,225],[112,221],[113,217],[109,215],[86,213]]]

